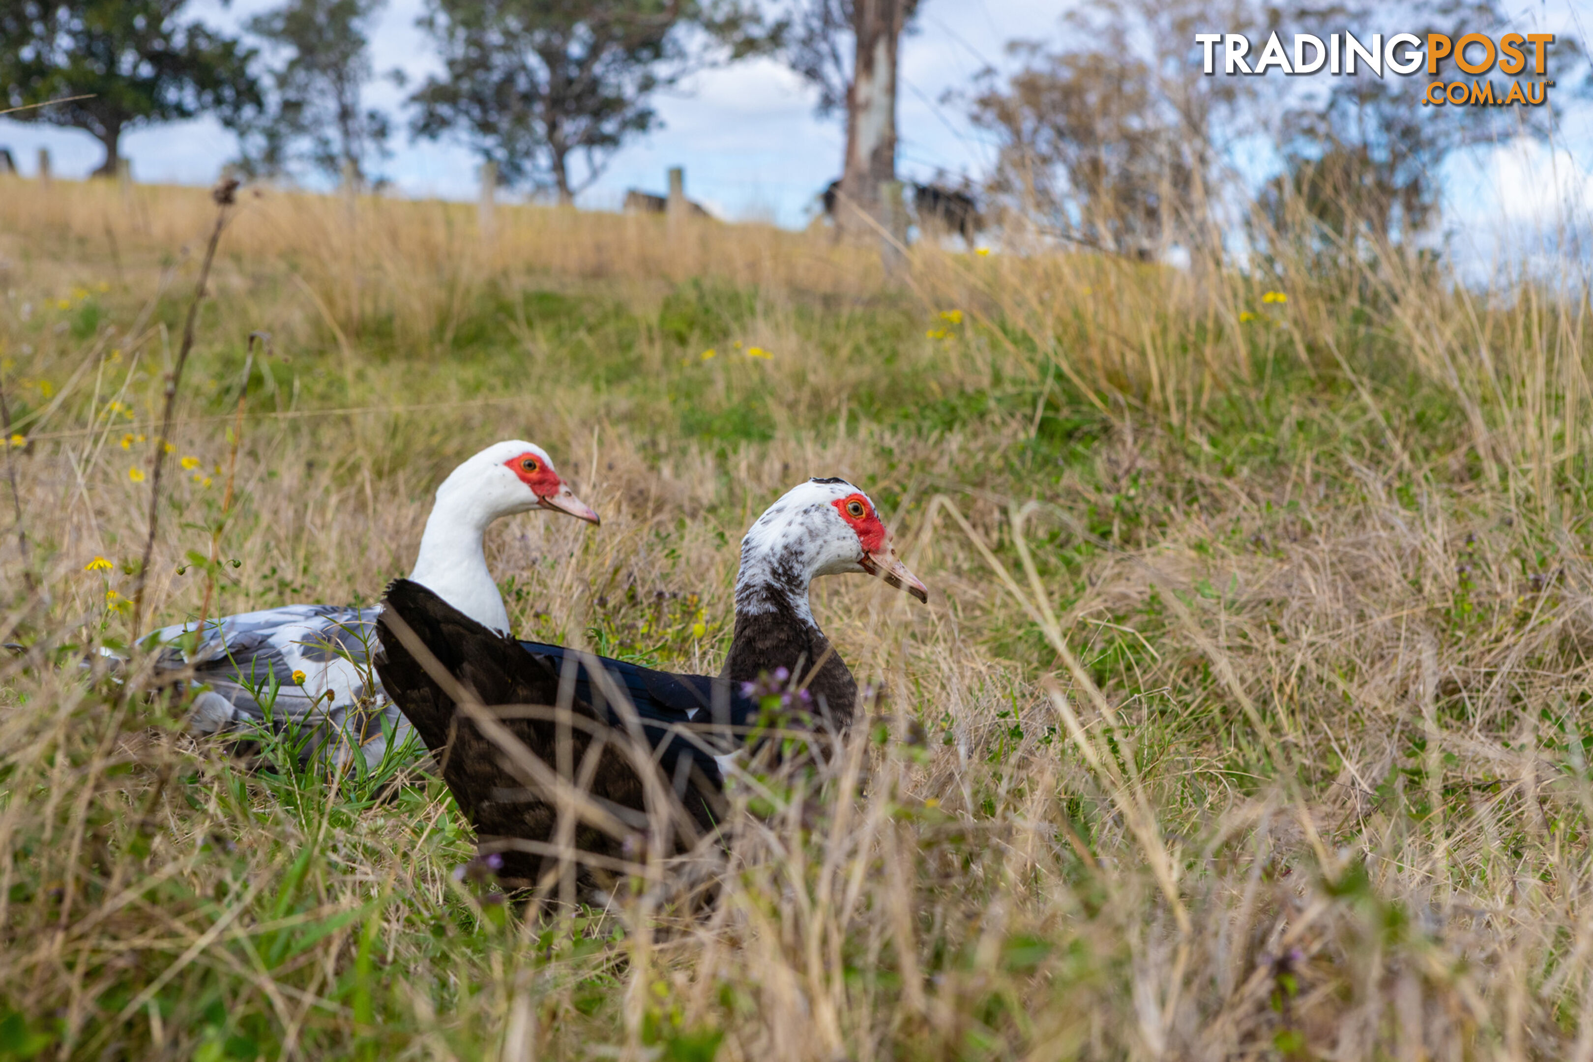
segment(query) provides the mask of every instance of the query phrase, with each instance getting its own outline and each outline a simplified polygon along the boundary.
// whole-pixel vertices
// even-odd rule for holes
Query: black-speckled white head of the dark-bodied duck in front
[[[860,572],[905,589],[929,591],[895,552],[890,530],[867,494],[844,479],[809,479],[787,490],[741,540],[736,611],[755,615],[790,600],[808,613],[808,584],[820,575]]]

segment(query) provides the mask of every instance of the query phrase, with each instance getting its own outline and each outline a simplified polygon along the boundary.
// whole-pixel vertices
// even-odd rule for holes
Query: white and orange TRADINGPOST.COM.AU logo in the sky
[[[1497,38],[1488,33],[1454,38],[1445,33],[1394,33],[1388,40],[1373,33],[1370,41],[1354,33],[1329,33],[1325,41],[1314,33],[1294,33],[1292,48],[1286,49],[1274,32],[1254,56],[1244,33],[1195,33],[1195,43],[1201,46],[1207,76],[1214,76],[1219,67],[1227,76],[1257,76],[1273,70],[1295,76],[1327,67],[1333,76],[1356,76],[1364,68],[1381,78],[1384,72],[1410,76],[1426,67],[1429,81],[1421,102],[1427,107],[1542,107],[1555,84],[1544,76],[1548,73],[1553,33],[1504,33]],[[1509,89],[1488,80],[1494,68],[1515,78],[1526,72],[1528,64],[1539,80],[1510,81]],[[1451,68],[1445,70],[1446,65]]]

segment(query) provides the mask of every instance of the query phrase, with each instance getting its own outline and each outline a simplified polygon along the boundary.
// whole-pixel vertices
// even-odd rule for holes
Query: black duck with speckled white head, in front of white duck
[[[564,763],[585,779],[594,807],[601,809],[580,822],[575,847],[612,857],[618,853],[616,828],[647,828],[647,787],[636,761],[620,748],[621,742],[605,739],[594,748],[596,739],[610,731],[631,736],[640,731],[658,783],[674,788],[695,825],[707,830],[715,818],[726,761],[738,744],[730,734],[746,732],[758,720],[755,683],[766,683],[769,675],[798,675],[806,681],[801,704],[811,707],[814,721],[835,729],[851,723],[857,683],[808,603],[814,578],[846,572],[875,575],[919,600],[929,599],[924,584],[897,557],[868,495],[844,479],[811,479],[771,505],[741,543],[736,627],[718,677],[677,675],[607,658],[585,658],[601,662],[605,677],[591,675],[575,659],[566,669],[566,658],[577,656],[570,650],[503,637],[406,580],[387,589],[378,621],[382,648],[376,669],[389,696],[438,758],[483,852],[502,853],[507,880],[535,880],[543,874],[558,820],[548,791],[556,775],[546,774],[561,761],[558,712],[550,705],[572,709]],[[417,659],[421,646],[419,656],[430,654],[479,704],[519,705],[497,712],[499,721],[542,767],[527,772],[526,763],[516,764],[456,713],[449,693]],[[561,699],[566,670],[575,683]],[[623,694],[634,716],[613,705],[609,696],[613,693]],[[728,724],[731,731],[715,732],[714,724]],[[588,759],[588,752],[594,759]],[[690,833],[691,823],[679,826],[679,833]]]

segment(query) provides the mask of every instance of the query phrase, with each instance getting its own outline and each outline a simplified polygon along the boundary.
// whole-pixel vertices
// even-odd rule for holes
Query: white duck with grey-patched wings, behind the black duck
[[[535,508],[597,524],[597,514],[559,479],[546,451],[534,443],[494,443],[436,489],[409,578],[472,619],[508,634],[508,611],[487,570],[483,535],[492,521]],[[411,726],[381,688],[370,656],[376,648],[374,608],[282,605],[207,619],[198,645],[194,624],[162,627],[147,643],[159,646],[158,670],[190,670],[204,686],[193,702],[193,726],[217,732],[266,718],[311,736],[336,763],[358,748],[376,766],[389,740],[405,742]],[[276,685],[272,701],[269,688]]]

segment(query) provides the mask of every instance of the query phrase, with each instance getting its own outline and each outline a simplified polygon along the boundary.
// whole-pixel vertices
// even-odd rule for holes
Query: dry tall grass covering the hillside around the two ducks
[[[75,666],[210,213],[3,183],[0,1057],[1593,1059],[1585,293],[924,247],[894,288],[773,229],[245,202],[159,619],[252,331],[225,610],[374,597],[505,436],[604,516],[494,530],[523,631],[714,669],[739,533],[833,473],[932,605],[817,589],[892,723],[742,791],[706,916],[507,916],[436,782],[250,774]]]

